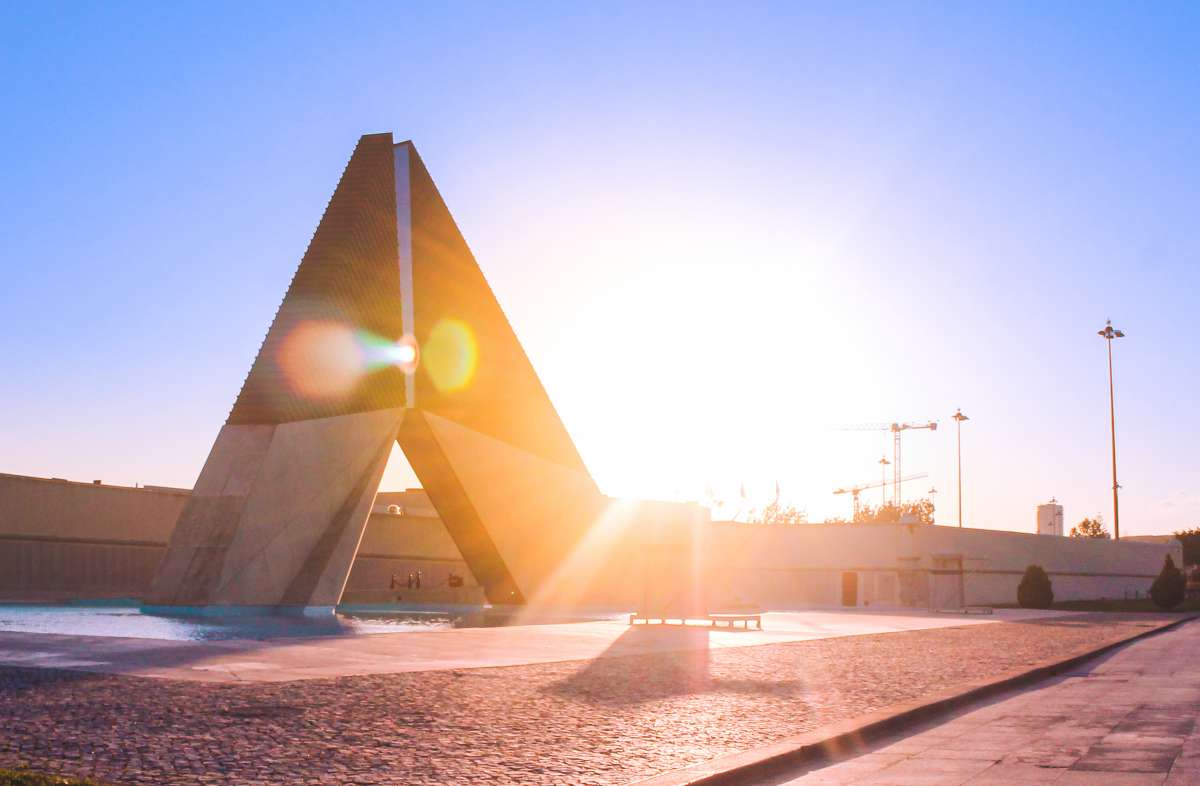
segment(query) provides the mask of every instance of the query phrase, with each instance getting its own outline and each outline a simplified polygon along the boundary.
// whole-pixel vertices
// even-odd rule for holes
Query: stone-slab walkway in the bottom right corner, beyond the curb
[[[1200,784],[1200,622],[772,784]]]

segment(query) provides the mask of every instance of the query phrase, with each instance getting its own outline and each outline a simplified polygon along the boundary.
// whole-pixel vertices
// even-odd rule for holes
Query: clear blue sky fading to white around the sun
[[[2,4],[0,472],[190,486],[412,138],[606,491],[1200,523],[1200,6]],[[394,482],[402,482],[398,474]],[[721,491],[724,490],[724,491]]]

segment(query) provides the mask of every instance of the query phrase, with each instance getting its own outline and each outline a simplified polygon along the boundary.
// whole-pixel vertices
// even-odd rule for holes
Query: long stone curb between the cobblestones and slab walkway
[[[979,682],[966,690],[935,694],[931,700],[896,704],[877,713],[832,724],[818,732],[798,734],[764,748],[720,756],[684,769],[634,781],[630,786],[736,786],[748,780],[781,775],[803,764],[847,756],[883,737],[935,720],[940,715],[983,698],[1055,677],[1118,647],[1174,630],[1198,618],[1200,614],[1181,617],[1066,660],[1050,661],[1026,672]]]

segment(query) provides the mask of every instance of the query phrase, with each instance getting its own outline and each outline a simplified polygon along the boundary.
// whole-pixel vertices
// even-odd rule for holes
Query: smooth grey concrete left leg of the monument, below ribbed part
[[[337,605],[402,418],[224,426],[145,604]]]

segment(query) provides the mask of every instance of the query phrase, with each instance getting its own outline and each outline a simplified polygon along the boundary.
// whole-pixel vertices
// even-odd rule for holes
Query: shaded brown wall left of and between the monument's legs
[[[140,599],[190,496],[186,488],[0,474],[0,600]],[[419,590],[408,588],[409,574],[420,574]],[[462,584],[452,587],[451,576]],[[479,583],[420,490],[378,494],[343,602],[397,596],[482,602]]]

